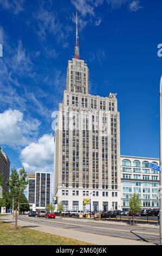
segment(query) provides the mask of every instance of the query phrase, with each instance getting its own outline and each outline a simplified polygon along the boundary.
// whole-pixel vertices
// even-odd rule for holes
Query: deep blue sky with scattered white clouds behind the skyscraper
[[[117,93],[121,154],[159,156],[161,1],[0,0],[0,144],[11,167],[53,170],[51,114],[74,56],[76,8],[90,93]]]

